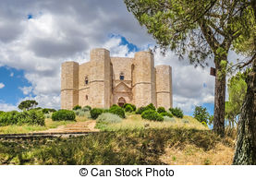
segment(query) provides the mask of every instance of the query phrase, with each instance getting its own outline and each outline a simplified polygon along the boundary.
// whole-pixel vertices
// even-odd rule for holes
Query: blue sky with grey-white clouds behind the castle
[[[59,108],[61,63],[86,62],[91,48],[133,56],[154,43],[122,0],[0,0],[0,111],[25,99]],[[189,66],[172,52],[154,57],[155,65],[173,67],[174,106],[191,114],[203,105],[213,113],[209,67]]]

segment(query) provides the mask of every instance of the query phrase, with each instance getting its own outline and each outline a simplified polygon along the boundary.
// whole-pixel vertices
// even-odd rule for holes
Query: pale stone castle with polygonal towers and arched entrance
[[[125,103],[149,103],[169,109],[173,105],[172,68],[154,66],[153,54],[138,52],[134,58],[111,57],[108,50],[91,50],[91,61],[61,66],[61,108],[75,105],[109,108]]]

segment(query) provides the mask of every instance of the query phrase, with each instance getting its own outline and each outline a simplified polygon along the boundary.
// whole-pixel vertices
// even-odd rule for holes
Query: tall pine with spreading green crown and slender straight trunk
[[[241,35],[246,13],[237,0],[124,0],[163,50],[189,55],[195,66],[215,64],[213,130],[224,136],[227,54]]]

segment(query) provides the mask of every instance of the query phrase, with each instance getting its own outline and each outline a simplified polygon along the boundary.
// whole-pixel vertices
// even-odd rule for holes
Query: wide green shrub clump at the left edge
[[[0,114],[0,126],[5,125],[44,125],[44,114],[39,110],[6,112]]]

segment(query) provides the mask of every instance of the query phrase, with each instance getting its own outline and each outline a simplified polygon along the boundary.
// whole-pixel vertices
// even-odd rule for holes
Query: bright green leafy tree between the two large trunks
[[[245,79],[248,72],[238,72],[236,76],[228,79],[228,101],[225,104],[225,118],[228,121],[230,127],[234,127],[237,124],[237,118],[241,113],[241,107],[245,99],[247,84]]]

